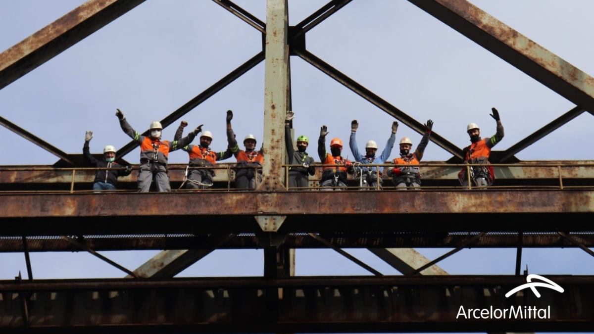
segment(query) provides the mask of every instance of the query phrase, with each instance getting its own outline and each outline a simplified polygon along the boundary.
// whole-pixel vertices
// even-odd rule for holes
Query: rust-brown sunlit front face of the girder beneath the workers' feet
[[[195,194],[186,193],[23,194],[0,201],[0,218],[334,215],[337,207],[342,215],[594,212],[591,190],[203,193],[200,206]]]

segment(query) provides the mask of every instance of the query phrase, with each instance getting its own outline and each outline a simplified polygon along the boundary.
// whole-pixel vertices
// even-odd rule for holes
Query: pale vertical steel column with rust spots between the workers
[[[266,2],[266,74],[264,75],[264,166],[258,190],[284,190],[283,135],[287,112],[287,0]]]

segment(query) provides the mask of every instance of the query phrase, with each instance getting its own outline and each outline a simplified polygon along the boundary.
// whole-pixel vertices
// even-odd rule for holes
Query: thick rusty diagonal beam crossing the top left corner
[[[0,89],[143,2],[89,0],[0,53]]]

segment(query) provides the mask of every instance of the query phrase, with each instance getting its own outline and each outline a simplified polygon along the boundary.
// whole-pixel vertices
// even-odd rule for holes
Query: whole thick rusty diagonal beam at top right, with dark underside
[[[409,0],[594,115],[594,78],[466,0]]]

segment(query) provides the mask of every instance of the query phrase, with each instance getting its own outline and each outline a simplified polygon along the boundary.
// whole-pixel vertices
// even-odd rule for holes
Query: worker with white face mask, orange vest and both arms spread
[[[134,131],[126,121],[124,113],[117,109],[116,116],[119,119],[119,125],[125,134],[140,144],[140,169],[138,171],[138,191],[148,193],[150,185],[155,182],[157,191],[171,191],[169,185],[169,175],[167,174],[167,160],[169,152],[179,150],[194,140],[194,137],[202,131],[202,125],[197,127],[187,137],[180,140],[161,140],[161,131],[163,127],[160,122],[154,121],[150,124],[149,136],[143,136],[138,131]]]

